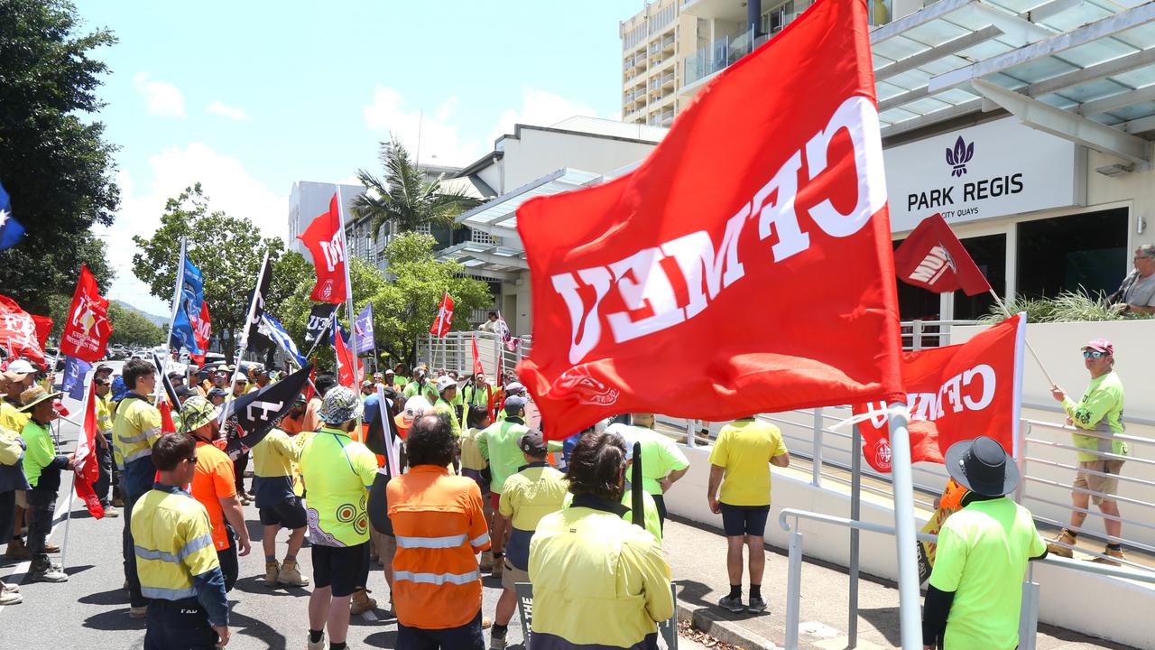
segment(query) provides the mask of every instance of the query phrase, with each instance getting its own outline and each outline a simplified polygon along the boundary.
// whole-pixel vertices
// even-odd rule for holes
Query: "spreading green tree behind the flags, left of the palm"
[[[133,273],[149,286],[154,296],[164,301],[172,300],[181,237],[187,242],[188,259],[204,276],[204,300],[213,317],[213,332],[221,334],[222,341],[229,341],[224,345],[224,355],[231,363],[241,325],[248,316],[261,259],[268,251],[269,264],[276,268],[284,242],[261,237],[247,219],[210,212],[209,198],[200,183],[187,187],[179,197],[169,199],[161,216],[161,228],[152,237],[133,237],[141,249],[133,256]],[[274,272],[266,309],[275,310],[277,304],[271,298],[282,300],[289,293],[291,289]]]

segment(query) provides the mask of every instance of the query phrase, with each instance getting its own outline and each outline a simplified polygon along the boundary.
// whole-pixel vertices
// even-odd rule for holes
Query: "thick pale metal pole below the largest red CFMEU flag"
[[[894,488],[894,532],[899,552],[899,620],[902,649],[923,648],[922,613],[918,604],[918,538],[915,532],[915,490],[910,473],[910,412],[904,402],[887,407],[891,435],[891,482]],[[860,453],[860,451],[859,451]]]

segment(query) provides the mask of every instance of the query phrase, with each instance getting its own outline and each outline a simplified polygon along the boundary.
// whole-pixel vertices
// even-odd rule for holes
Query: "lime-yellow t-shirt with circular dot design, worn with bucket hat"
[[[300,455],[308,539],[322,546],[368,541],[365,504],[377,477],[377,457],[349,434],[322,427]]]

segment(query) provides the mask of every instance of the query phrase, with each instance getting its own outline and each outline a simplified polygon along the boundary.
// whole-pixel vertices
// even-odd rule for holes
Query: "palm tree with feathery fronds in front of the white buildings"
[[[402,232],[411,232],[424,224],[444,224],[453,228],[461,213],[480,205],[480,199],[444,190],[441,178],[425,179],[425,172],[409,158],[409,152],[396,140],[381,142],[381,164],[385,178],[377,178],[364,169],[357,178],[367,190],[353,199],[358,216],[368,216],[373,242],[382,226],[395,224]]]

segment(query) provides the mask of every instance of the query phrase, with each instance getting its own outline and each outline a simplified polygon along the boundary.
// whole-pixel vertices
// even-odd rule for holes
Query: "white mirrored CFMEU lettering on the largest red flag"
[[[810,234],[803,231],[795,208],[798,177],[804,160],[807,180],[814,180],[827,170],[830,142],[842,130],[850,135],[854,147],[857,199],[848,213],[839,212],[826,198],[808,214],[814,224],[832,237],[858,232],[886,205],[886,179],[882,177],[878,110],[867,98],[855,96],[844,101],[826,127],[806,142],[804,150],[795,152],[751,200],[726,220],[720,245],[715,245],[708,231],[698,230],[604,266],[552,275],[553,290],[569,311],[569,362],[580,363],[602,340],[599,309],[611,289],[617,291],[625,308],[604,315],[614,342],[673,327],[705,311],[723,289],[745,276],[738,244],[747,235],[750,222],[757,222],[759,241],[773,236],[768,252],[773,261],[808,250]],[[675,263],[685,281],[686,304],[678,302],[662,264],[665,259]],[[587,304],[590,294],[594,300]]]

